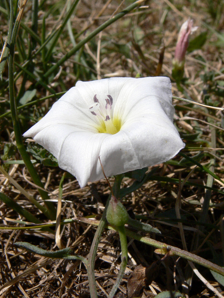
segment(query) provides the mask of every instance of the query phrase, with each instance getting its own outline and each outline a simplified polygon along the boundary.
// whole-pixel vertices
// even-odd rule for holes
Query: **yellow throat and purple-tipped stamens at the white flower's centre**
[[[91,106],[90,112],[99,119],[99,126],[97,127],[99,133],[116,134],[121,128],[121,121],[111,114],[111,107],[113,105],[113,98],[107,95],[105,99],[105,107],[99,103],[96,95],[93,97],[94,105]]]

